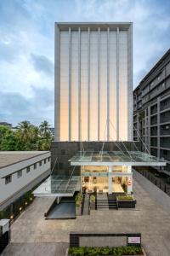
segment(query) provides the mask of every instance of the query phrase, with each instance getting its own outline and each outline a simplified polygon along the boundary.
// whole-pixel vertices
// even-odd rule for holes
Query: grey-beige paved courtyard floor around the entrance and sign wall
[[[169,256],[170,212],[146,192],[138,179],[139,176],[133,182],[138,201],[135,209],[91,211],[91,215],[77,219],[45,220],[43,213],[52,199],[37,198],[12,225],[11,244],[4,250],[3,256],[65,255],[69,233],[76,230],[141,232],[147,255]]]

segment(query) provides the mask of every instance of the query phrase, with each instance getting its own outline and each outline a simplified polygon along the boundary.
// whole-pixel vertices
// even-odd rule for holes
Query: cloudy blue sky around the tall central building
[[[133,22],[133,88],[170,48],[169,0],[0,0],[0,121],[54,125],[54,22]]]

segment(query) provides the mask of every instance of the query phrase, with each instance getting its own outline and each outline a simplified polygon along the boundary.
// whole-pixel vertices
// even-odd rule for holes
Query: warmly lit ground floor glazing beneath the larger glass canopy
[[[127,166],[81,166],[81,187],[88,193],[133,192],[133,174]]]

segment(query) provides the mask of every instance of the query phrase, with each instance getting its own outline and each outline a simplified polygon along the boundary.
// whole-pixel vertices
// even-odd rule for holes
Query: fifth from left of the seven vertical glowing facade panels
[[[100,32],[99,51],[99,140],[106,140],[107,119],[107,32]]]

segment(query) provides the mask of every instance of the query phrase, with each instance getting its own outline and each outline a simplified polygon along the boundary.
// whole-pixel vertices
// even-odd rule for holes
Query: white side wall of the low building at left
[[[48,161],[48,157],[50,157],[50,152],[0,169],[0,210],[48,177],[51,166],[51,160]],[[46,164],[44,164],[45,159]],[[42,166],[39,165],[41,160]],[[33,166],[35,163],[37,163],[36,169]],[[27,166],[30,166],[30,172],[26,172]],[[22,170],[22,176],[18,177],[17,172],[20,170]],[[12,175],[12,181],[6,184],[5,177],[8,175]]]

